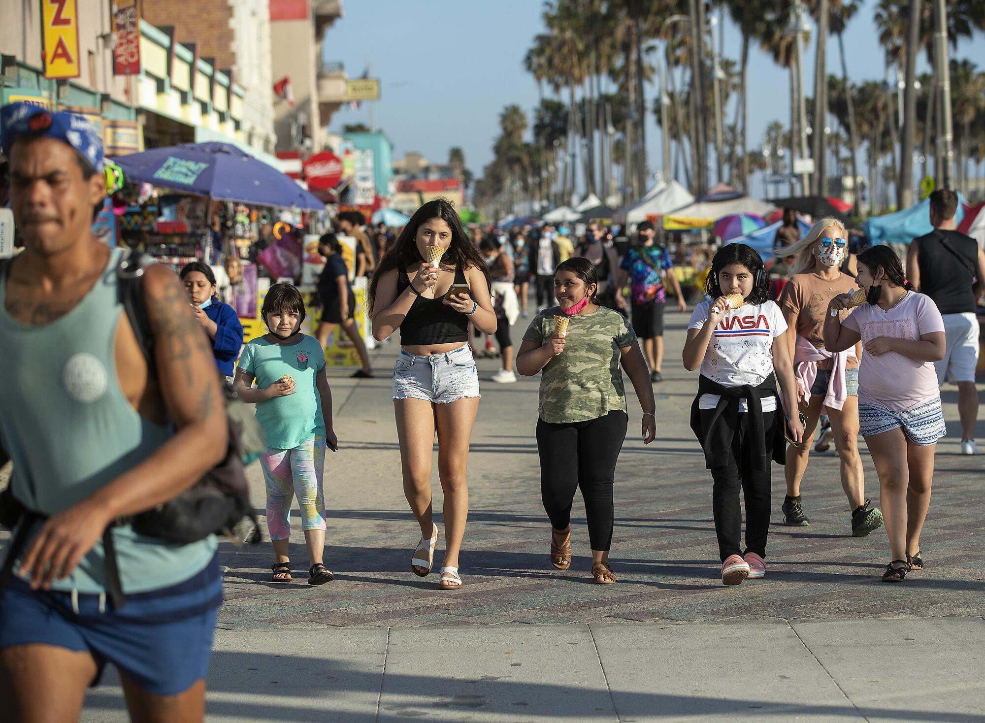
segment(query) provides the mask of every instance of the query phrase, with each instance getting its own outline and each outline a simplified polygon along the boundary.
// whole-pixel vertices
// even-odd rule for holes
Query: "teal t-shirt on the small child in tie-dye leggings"
[[[321,414],[321,395],[315,375],[325,368],[325,354],[313,337],[301,335],[291,346],[254,339],[243,348],[238,368],[256,377],[256,385],[266,389],[285,374],[293,377],[294,394],[274,397],[256,404],[256,419],[272,449],[294,449],[305,439],[325,434]]]

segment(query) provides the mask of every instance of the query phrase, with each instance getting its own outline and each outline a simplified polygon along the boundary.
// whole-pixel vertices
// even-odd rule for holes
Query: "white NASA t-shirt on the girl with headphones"
[[[689,329],[700,329],[708,319],[711,301],[701,301],[690,315]],[[773,301],[730,309],[718,321],[701,362],[701,373],[722,386],[758,386],[773,373],[773,339],[787,330],[780,307]],[[932,369],[933,370],[933,369]],[[714,409],[717,394],[703,394],[699,409]],[[762,411],[776,409],[776,397],[762,400]],[[739,411],[749,404],[739,400]]]

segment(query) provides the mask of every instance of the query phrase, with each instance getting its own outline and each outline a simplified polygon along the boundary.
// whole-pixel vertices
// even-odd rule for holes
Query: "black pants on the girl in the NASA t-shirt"
[[[702,432],[714,410],[701,410]],[[739,489],[746,496],[746,552],[766,558],[766,536],[769,533],[770,470],[756,471],[752,466],[752,444],[749,435],[752,428],[749,414],[737,415],[739,428],[732,437],[728,464],[711,468],[714,487],[711,492],[711,509],[715,515],[715,535],[718,537],[718,556],[724,562],[733,555],[742,556],[742,508],[739,506]],[[773,438],[775,412],[762,413],[762,426],[766,439]],[[724,420],[721,421],[724,424]]]

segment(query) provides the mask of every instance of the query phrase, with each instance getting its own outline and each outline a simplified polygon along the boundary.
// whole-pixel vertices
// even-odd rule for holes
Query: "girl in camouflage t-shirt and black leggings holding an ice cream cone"
[[[562,570],[571,564],[571,503],[580,488],[592,577],[606,585],[616,582],[609,564],[613,482],[628,422],[622,370],[643,408],[645,444],[656,435],[656,402],[632,327],[617,312],[599,306],[597,289],[590,261],[570,258],[561,263],[555,275],[558,305],[530,322],[516,370],[523,376],[543,371],[537,448],[541,495],[551,519],[551,563]]]

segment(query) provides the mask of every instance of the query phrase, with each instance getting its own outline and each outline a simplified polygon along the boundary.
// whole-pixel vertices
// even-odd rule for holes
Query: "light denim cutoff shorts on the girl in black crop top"
[[[418,357],[400,350],[393,367],[394,399],[423,399],[432,404],[448,404],[479,396],[479,372],[468,344],[430,357]]]

